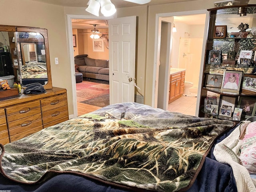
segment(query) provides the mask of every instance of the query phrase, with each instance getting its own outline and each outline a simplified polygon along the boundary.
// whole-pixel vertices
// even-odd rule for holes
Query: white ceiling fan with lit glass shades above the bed
[[[136,4],[146,4],[149,3],[151,0],[124,0]],[[99,16],[99,11],[106,17],[113,15],[116,12],[116,7],[110,0],[89,0],[87,3],[88,7],[86,11],[95,15]],[[101,9],[100,9],[101,7]]]

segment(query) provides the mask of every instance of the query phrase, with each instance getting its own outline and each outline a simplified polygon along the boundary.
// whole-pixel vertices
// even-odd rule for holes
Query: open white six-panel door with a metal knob
[[[110,19],[108,30],[109,102],[134,102],[136,16]]]

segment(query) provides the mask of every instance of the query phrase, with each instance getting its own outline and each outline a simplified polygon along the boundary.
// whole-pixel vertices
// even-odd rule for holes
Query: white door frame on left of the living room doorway
[[[73,15],[67,14],[67,38],[68,38],[68,46],[69,46],[69,55],[70,55],[70,71],[71,71],[71,84],[72,84],[72,98],[73,98],[73,117],[78,116],[77,112],[77,100],[76,100],[76,76],[75,76],[75,64],[74,64],[74,49],[73,49],[73,33],[72,33],[72,19],[94,19],[94,20],[109,20],[114,18],[104,17],[104,16],[92,16],[92,15]]]

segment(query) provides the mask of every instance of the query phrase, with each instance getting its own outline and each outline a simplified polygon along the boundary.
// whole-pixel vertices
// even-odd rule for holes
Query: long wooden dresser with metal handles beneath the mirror
[[[66,89],[0,101],[0,143],[6,144],[68,120]]]

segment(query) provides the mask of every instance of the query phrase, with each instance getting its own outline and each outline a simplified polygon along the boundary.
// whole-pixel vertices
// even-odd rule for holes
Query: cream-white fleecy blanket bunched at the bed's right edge
[[[240,164],[239,159],[242,144],[239,138],[249,123],[250,121],[242,121],[228,137],[216,144],[213,152],[218,162],[232,167],[238,192],[256,192],[248,170]]]

